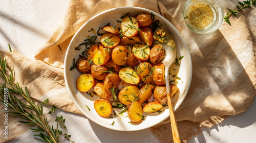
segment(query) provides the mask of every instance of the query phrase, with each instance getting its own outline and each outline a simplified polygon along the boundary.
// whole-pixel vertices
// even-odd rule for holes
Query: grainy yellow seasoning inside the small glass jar
[[[209,4],[197,2],[187,10],[187,19],[191,26],[198,29],[207,28],[214,21],[214,11]]]

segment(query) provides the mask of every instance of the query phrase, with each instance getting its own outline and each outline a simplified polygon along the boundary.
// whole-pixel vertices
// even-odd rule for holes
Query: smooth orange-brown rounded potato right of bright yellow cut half
[[[117,65],[125,65],[127,59],[127,50],[124,46],[118,45],[112,51],[112,60]]]

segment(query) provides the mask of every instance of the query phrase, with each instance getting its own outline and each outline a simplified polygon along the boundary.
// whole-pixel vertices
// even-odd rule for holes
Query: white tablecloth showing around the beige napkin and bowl
[[[237,1],[233,3],[237,4]],[[50,38],[62,22],[67,6],[68,1],[60,0],[1,1],[0,50],[9,51],[10,43],[13,50],[34,59],[35,51]],[[256,142],[255,108],[256,101],[246,112],[229,116],[211,128],[202,128],[202,133],[188,142]],[[75,142],[159,142],[149,129],[134,132],[113,131],[95,124],[83,115],[61,110],[56,110],[56,113],[66,118],[68,134],[72,135],[71,139]],[[53,116],[48,118],[51,118],[51,124],[56,125]],[[11,142],[39,142],[33,139],[33,134],[29,130]],[[67,142],[67,139],[62,139],[62,142]]]

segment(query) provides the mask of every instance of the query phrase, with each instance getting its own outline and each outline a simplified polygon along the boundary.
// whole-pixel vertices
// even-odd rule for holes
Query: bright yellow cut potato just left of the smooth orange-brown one
[[[93,56],[93,63],[97,65],[103,65],[110,59],[109,51],[105,48],[95,51]]]

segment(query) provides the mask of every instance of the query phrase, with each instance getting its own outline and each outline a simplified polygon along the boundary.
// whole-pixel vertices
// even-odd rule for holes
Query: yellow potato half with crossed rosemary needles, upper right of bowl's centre
[[[134,44],[132,52],[139,60],[145,61],[150,58],[150,47],[146,44]]]

